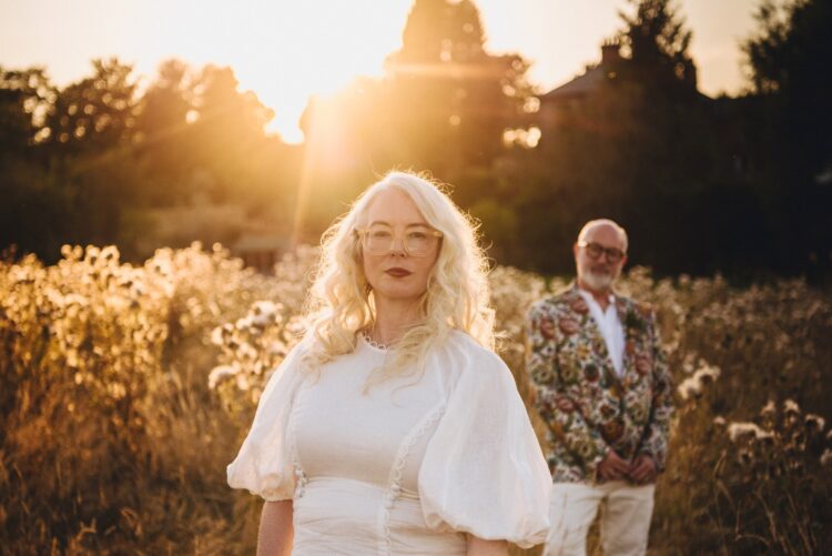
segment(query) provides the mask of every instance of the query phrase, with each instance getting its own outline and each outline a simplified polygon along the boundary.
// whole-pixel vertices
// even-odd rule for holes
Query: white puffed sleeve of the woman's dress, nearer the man
[[[449,394],[419,469],[427,525],[509,540],[546,540],[551,476],[510,371],[478,348]]]

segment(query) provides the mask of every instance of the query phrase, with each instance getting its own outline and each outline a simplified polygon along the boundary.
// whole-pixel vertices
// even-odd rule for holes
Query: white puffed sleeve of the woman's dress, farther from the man
[[[287,424],[295,393],[303,380],[298,370],[300,352],[301,344],[272,374],[248,435],[226,469],[232,488],[246,488],[267,502],[290,499],[295,489]]]

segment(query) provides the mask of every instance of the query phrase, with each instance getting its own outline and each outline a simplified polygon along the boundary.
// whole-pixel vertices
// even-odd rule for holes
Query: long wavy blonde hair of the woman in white
[[[369,330],[375,323],[373,290],[364,276],[356,229],[365,224],[376,196],[393,189],[405,192],[443,236],[420,299],[419,321],[396,343],[393,357],[371,374],[365,390],[406,367],[420,374],[429,352],[451,331],[465,332],[488,348],[494,348],[495,343],[488,263],[477,241],[477,224],[454,204],[443,185],[424,175],[389,172],[367,188],[322,237],[321,261],[307,300],[315,341],[304,358],[313,368],[319,368],[352,353],[359,331]]]

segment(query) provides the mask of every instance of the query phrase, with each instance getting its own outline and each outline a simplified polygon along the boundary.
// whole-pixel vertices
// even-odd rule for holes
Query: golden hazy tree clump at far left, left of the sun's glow
[[[42,69],[2,69],[0,247],[51,262],[62,243],[118,243],[136,261],[138,244],[170,244],[142,216],[155,209],[235,201],[291,221],[300,162],[266,135],[271,118],[229,68],[169,60],[144,91],[118,59],[62,89]]]

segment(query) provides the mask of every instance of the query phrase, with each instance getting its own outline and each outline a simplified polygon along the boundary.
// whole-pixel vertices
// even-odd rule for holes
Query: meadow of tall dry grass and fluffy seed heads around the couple
[[[0,554],[253,554],[260,503],[225,465],[303,330],[316,251],[271,276],[219,245],[62,255],[0,262]],[[566,282],[490,277],[525,395],[526,310]],[[650,554],[830,554],[830,292],[640,267],[620,290],[657,310],[676,381]]]

